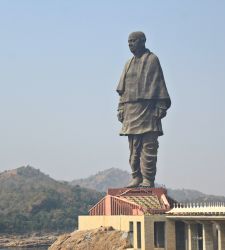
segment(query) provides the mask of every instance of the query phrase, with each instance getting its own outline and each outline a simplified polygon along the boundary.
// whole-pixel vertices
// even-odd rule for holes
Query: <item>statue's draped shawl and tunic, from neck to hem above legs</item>
[[[171,101],[156,55],[146,49],[140,58],[131,58],[125,65],[117,92],[118,109],[124,117],[120,135],[163,134],[157,112],[159,108],[167,110]]]

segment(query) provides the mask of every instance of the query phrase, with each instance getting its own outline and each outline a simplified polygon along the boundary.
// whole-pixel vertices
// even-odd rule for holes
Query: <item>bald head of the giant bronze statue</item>
[[[132,32],[128,37],[128,45],[131,53],[135,56],[142,54],[145,50],[146,37],[141,31]]]

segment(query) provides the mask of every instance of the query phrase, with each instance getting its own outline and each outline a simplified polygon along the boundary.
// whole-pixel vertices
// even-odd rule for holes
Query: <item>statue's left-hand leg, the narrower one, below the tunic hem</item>
[[[142,135],[128,135],[130,158],[129,163],[132,170],[132,181],[127,187],[137,187],[142,182],[140,169],[140,154],[142,148]]]

